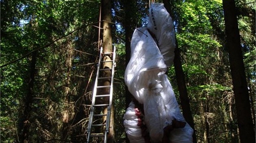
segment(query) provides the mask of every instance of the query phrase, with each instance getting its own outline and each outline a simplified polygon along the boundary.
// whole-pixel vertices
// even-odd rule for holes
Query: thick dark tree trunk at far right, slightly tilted
[[[223,0],[225,30],[241,143],[255,143],[249,93],[234,0]]]

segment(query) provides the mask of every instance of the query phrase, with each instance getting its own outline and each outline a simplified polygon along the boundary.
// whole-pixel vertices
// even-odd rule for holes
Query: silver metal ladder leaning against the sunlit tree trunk
[[[103,48],[101,47],[100,49],[100,59],[98,61],[98,67],[97,67],[97,75],[96,75],[96,81],[95,81],[95,85],[93,88],[93,100],[92,100],[92,104],[91,104],[91,111],[90,111],[90,116],[89,116],[89,123],[88,123],[88,128],[87,128],[87,141],[86,143],[90,143],[91,138],[93,137],[101,137],[102,139],[104,139],[104,143],[106,143],[106,136],[107,133],[109,132],[109,124],[110,124],[110,115],[111,115],[111,104],[112,104],[112,96],[113,96],[113,81],[114,81],[114,73],[115,73],[115,57],[116,57],[116,48],[114,46],[113,51],[109,51],[104,53],[103,52]],[[105,58],[106,56],[108,56],[108,58]],[[112,66],[110,67],[106,67],[106,69],[103,69],[100,67],[102,64],[106,64],[109,63]],[[106,71],[111,71],[111,75],[109,75],[109,77],[100,77],[100,75],[102,74],[102,72],[106,72]],[[99,82],[102,82],[104,80],[109,80],[111,83],[110,84],[99,84]],[[108,93],[100,93],[99,90],[102,89],[109,89]],[[104,99],[104,97],[106,99],[108,99],[108,102],[104,102],[102,100],[97,100],[98,99]],[[107,104],[105,104],[107,103]],[[106,108],[107,107],[107,113],[103,114],[103,113],[95,113],[94,110],[97,108]],[[95,113],[95,114],[94,114]],[[102,117],[106,117],[106,121],[105,122],[94,122],[93,120],[96,120],[98,118],[102,118]],[[104,127],[104,131],[103,132],[91,132],[94,131],[94,128],[97,127]]]

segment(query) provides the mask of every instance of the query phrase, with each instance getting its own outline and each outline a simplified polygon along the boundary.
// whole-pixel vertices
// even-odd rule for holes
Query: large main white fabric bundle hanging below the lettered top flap
[[[163,55],[147,29],[135,29],[124,80],[130,93],[144,105],[145,123],[153,143],[162,140],[163,128],[172,124],[174,118],[185,122],[166,70]],[[193,129],[188,124],[174,130],[171,132],[171,141],[192,142]],[[129,132],[126,133],[129,135]]]

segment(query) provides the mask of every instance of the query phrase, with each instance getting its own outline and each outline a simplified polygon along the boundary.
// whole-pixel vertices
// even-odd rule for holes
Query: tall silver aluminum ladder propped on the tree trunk
[[[112,99],[113,99],[113,80],[114,80],[114,74],[115,74],[115,46],[113,49],[113,52],[111,53],[104,53],[102,47],[100,48],[100,58],[99,62],[97,64],[97,75],[95,79],[95,85],[93,88],[93,97],[92,97],[92,103],[91,103],[91,111],[89,116],[89,124],[87,128],[87,143],[91,143],[92,138],[104,138],[104,143],[107,142],[107,134],[109,132],[109,124],[110,124],[110,114],[111,114],[111,105],[112,105]],[[111,61],[102,61],[102,57],[105,55],[112,55]],[[102,69],[102,63],[104,62],[112,62],[112,67],[107,69]],[[100,77],[100,72],[104,70],[111,70],[111,77]],[[109,86],[100,86],[99,81],[110,79],[110,85]],[[108,94],[101,95],[99,93],[102,88],[110,88]],[[108,104],[98,104],[97,100],[102,100],[103,97],[109,97],[109,103]],[[95,103],[96,101],[96,103]],[[103,114],[102,111],[99,111],[102,109],[102,107],[107,106],[107,114]],[[96,114],[95,112],[98,111],[100,114]],[[106,122],[104,123],[96,123],[97,118],[103,118],[106,116]],[[103,127],[103,132],[96,132],[95,127]]]

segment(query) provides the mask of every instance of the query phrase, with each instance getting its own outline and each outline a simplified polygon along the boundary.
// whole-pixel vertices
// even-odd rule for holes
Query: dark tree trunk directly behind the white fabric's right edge
[[[163,0],[163,3],[165,4],[166,10],[172,17],[171,4],[170,4],[169,0]],[[177,40],[176,40],[176,48],[175,48],[174,53],[175,53],[174,68],[175,68],[175,74],[176,74],[176,79],[177,79],[177,83],[178,83],[178,90],[180,93],[180,102],[181,102],[183,116],[184,116],[185,120],[189,123],[189,125],[194,129],[193,143],[197,143],[194,122],[193,122],[193,116],[192,116],[192,112],[190,109],[189,97],[188,97],[188,93],[187,93],[187,86],[186,86],[186,82],[185,82],[185,76],[184,76],[184,72],[182,69],[182,63],[181,63],[181,59],[180,59],[180,49],[178,48]]]

